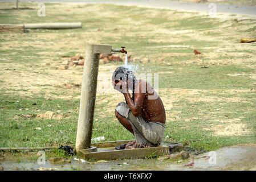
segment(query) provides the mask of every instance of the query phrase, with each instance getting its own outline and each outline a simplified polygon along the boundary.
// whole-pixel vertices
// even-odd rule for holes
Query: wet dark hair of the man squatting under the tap
[[[125,81],[128,83],[132,83],[132,100],[134,100],[136,77],[133,75],[132,70],[129,68],[125,68],[123,66],[116,68],[115,72],[113,72],[112,80],[119,81],[123,80],[123,78],[125,78]]]

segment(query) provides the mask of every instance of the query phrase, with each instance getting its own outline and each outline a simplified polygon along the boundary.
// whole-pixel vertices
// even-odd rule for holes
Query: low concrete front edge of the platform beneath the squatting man
[[[148,147],[148,148],[134,148],[127,150],[115,150],[110,147],[107,150],[99,148],[97,152],[87,152],[80,150],[79,155],[84,159],[95,160],[116,160],[116,159],[136,159],[147,158],[150,156],[162,156],[169,154],[168,146]]]

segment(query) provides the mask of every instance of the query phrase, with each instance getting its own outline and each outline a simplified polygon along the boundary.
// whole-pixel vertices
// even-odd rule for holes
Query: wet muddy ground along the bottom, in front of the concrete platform
[[[193,166],[184,166],[193,161]],[[191,155],[186,160],[170,160],[165,157],[157,159],[129,159],[98,162],[80,162],[72,160],[67,164],[39,165],[37,160],[14,162],[2,160],[0,168],[4,170],[256,170],[256,145],[230,146],[200,155]]]

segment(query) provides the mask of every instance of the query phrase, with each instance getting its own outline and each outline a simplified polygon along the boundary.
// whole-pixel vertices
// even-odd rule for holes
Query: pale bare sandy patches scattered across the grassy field
[[[48,13],[54,13],[55,8],[59,8],[59,5],[54,5],[51,9],[48,9]],[[68,15],[74,15],[79,13],[84,13],[84,11],[99,11],[101,14],[95,16],[95,18],[101,18],[104,16],[119,16],[120,14],[115,13],[113,11],[106,11],[104,6],[96,5],[85,7],[84,9],[79,6],[75,6],[74,8],[70,8],[70,6],[62,5],[61,9],[58,9],[59,13],[63,13]],[[159,10],[148,9],[145,12],[145,18],[148,19],[154,18],[160,14]],[[26,14],[21,14],[21,16],[26,17]],[[208,40],[214,41],[216,39],[222,39],[221,48],[216,46],[205,47],[204,49],[210,49],[212,52],[204,53],[204,49],[202,49],[202,55],[188,59],[185,61],[180,61],[178,64],[180,65],[188,65],[188,64],[198,64],[201,65],[205,59],[209,60],[205,65],[244,65],[249,68],[256,68],[256,65],[253,64],[255,61],[255,46],[253,44],[240,44],[239,38],[242,37],[250,37],[251,33],[247,32],[250,28],[255,26],[253,22],[253,18],[248,18],[247,16],[237,15],[237,16],[229,16],[222,15],[222,22],[220,26],[212,30],[173,30],[170,28],[166,28],[166,24],[168,26],[175,26],[179,22],[181,18],[189,18],[199,17],[200,14],[175,14],[173,11],[168,11],[165,14],[168,20],[176,19],[177,22],[162,23],[162,24],[148,24],[147,31],[141,30],[141,27],[147,24],[147,19],[140,19],[137,21],[132,21],[128,19],[128,23],[124,27],[124,30],[132,30],[127,31],[126,36],[149,36],[156,35],[156,38],[149,39],[149,43],[169,43],[169,45],[165,46],[152,46],[149,47],[152,49],[155,48],[197,48],[196,46],[187,46],[187,45],[172,45],[172,43],[178,43],[184,40]],[[64,17],[63,17],[64,19]],[[239,22],[239,23],[238,23]],[[113,30],[113,28],[123,27],[122,24],[115,23],[113,26],[104,27],[104,31],[93,31],[93,32],[74,32],[74,33],[64,33],[64,34],[48,34],[47,31],[41,32],[40,34],[33,34],[33,32],[29,33],[31,36],[29,37],[29,41],[27,40],[27,35],[24,34],[0,34],[1,40],[7,40],[4,43],[0,43],[0,50],[11,50],[15,49],[15,51],[23,51],[24,48],[33,47],[36,49],[43,49],[47,47],[48,51],[40,52],[42,55],[40,58],[36,56],[21,56],[19,59],[34,59],[34,62],[31,63],[8,63],[8,61],[13,61],[10,57],[1,57],[1,70],[0,74],[0,82],[1,89],[5,90],[8,94],[17,94],[19,96],[28,97],[35,96],[36,94],[43,94],[45,98],[62,98],[65,100],[71,100],[74,98],[80,98],[80,85],[82,82],[82,71],[83,67],[70,67],[67,70],[60,70],[59,66],[63,61],[68,60],[67,57],[62,57],[66,54],[66,51],[70,47],[76,50],[77,53],[84,52],[84,41],[93,42],[93,43],[101,43],[103,38],[116,36],[113,32],[109,32],[108,30]],[[137,31],[136,31],[137,30]],[[226,30],[226,31],[223,31]],[[235,31],[232,31],[235,30]],[[135,33],[136,32],[136,33]],[[209,36],[206,33],[214,33],[217,36]],[[242,34],[241,34],[242,32]],[[237,38],[237,43],[234,43],[234,39],[229,41],[230,34],[234,38]],[[168,38],[166,40],[166,38]],[[19,39],[19,40],[18,40]],[[226,40],[225,40],[226,39]],[[58,40],[56,42],[56,40]],[[118,38],[116,39],[118,41]],[[247,50],[251,50],[251,52],[246,52]],[[9,54],[17,55],[17,52],[10,52]],[[150,51],[150,50],[149,50]],[[245,51],[245,52],[243,52]],[[153,62],[163,61],[167,57],[175,57],[175,56],[190,56],[191,53],[162,53],[161,57],[159,57],[158,53],[149,53],[149,55],[140,55],[136,52],[131,52],[133,57],[143,58],[148,56]],[[226,57],[234,57],[233,59],[226,59]],[[243,58],[245,57],[246,58]],[[40,59],[40,63],[37,63],[36,60]],[[49,64],[49,65],[46,65]],[[177,63],[176,63],[177,64]],[[115,92],[112,92],[111,86],[107,85],[108,88],[104,89],[104,92],[101,92],[103,86],[106,86],[105,78],[111,78],[112,72],[115,68],[118,67],[117,64],[104,64],[99,67],[99,77],[98,77],[98,85],[97,85],[97,94],[98,96],[102,96],[102,94],[108,93],[108,100],[104,101],[101,99],[96,100],[96,104],[104,104],[106,105],[105,114],[112,114],[113,108],[115,108],[116,100],[122,100],[121,96],[117,96]],[[160,72],[161,73],[161,72]],[[165,72],[166,73],[166,72]],[[172,72],[166,73],[171,74]],[[227,76],[248,76],[255,79],[255,74],[246,75],[243,74],[229,74]],[[112,90],[112,91],[111,91]],[[213,92],[218,92],[218,90],[212,90]],[[179,111],[172,111],[173,102],[180,101],[181,99],[186,99],[189,102],[248,102],[245,101],[242,97],[234,96],[229,98],[221,98],[215,96],[204,96],[205,90],[193,90],[193,89],[160,89],[159,94],[164,101],[166,107],[167,117],[171,118],[169,121],[175,121],[178,116]],[[249,90],[229,90],[230,93],[234,92],[249,92]],[[170,100],[169,97],[172,96]],[[230,121],[223,121],[226,125],[217,125],[213,126],[212,130],[216,135],[243,135],[249,133],[246,130],[245,126],[242,123],[233,123]]]

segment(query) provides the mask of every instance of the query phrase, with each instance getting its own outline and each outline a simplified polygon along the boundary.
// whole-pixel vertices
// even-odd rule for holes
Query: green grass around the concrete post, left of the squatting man
[[[18,101],[17,102],[17,98]],[[36,105],[32,105],[36,103]],[[58,107],[58,105],[60,107]],[[76,137],[76,127],[78,121],[78,113],[76,109],[79,107],[79,100],[52,100],[45,98],[29,98],[24,100],[18,96],[15,99],[1,94],[0,101],[0,128],[1,142],[0,146],[60,146],[60,144],[74,145]],[[99,110],[103,106],[96,106],[95,110]],[[29,110],[19,110],[26,108]],[[35,109],[40,109],[36,112]],[[63,119],[26,119],[21,116],[14,119],[15,115],[45,113],[46,111],[62,110],[62,113],[68,115]],[[106,140],[122,140],[132,139],[132,134],[127,133],[120,123],[113,122],[115,115],[101,117],[103,113],[95,113],[95,118],[99,118],[94,122],[92,137],[104,136]],[[52,125],[48,127],[48,125]],[[41,127],[42,130],[36,130]],[[46,137],[47,136],[47,137]]]

